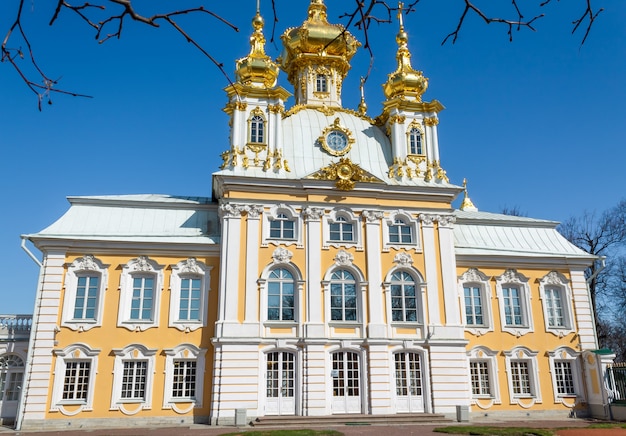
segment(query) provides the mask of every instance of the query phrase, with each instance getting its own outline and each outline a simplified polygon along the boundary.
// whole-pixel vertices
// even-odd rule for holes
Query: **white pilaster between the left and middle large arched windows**
[[[308,207],[302,212],[306,229],[306,322],[307,338],[322,338],[325,327],[322,314],[322,216],[324,209]]]

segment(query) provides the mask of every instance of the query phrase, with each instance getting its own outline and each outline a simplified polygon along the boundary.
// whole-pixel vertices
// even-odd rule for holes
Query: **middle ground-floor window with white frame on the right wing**
[[[537,367],[537,352],[517,347],[504,353],[508,373],[511,403],[534,404],[541,402]],[[530,400],[530,403],[526,403]]]

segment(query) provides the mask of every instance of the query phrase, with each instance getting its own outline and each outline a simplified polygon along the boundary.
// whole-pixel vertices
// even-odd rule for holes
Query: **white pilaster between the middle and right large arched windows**
[[[362,215],[365,219],[365,247],[369,282],[368,306],[370,313],[367,336],[369,338],[384,338],[386,327],[383,314],[382,248],[380,246],[380,220],[383,218],[383,213],[379,210],[365,210]]]

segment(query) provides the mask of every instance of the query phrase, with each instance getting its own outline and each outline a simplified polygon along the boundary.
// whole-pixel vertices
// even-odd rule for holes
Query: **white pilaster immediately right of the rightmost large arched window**
[[[437,248],[435,246],[435,215],[420,214],[422,223],[422,238],[424,242],[424,267],[426,279],[426,312],[427,324],[441,325],[439,312],[439,275],[437,274]]]

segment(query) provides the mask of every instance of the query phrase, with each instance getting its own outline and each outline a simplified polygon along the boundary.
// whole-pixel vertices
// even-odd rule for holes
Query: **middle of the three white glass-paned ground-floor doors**
[[[332,354],[332,413],[361,413],[359,355],[350,351]]]

